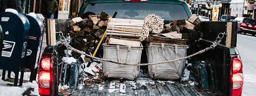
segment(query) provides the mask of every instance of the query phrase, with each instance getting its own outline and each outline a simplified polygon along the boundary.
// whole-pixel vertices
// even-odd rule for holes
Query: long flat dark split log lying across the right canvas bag
[[[187,45],[189,40],[182,40],[182,39],[171,39],[161,36],[149,36],[149,42],[151,43],[166,43],[166,44],[176,44],[176,45]]]

